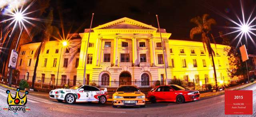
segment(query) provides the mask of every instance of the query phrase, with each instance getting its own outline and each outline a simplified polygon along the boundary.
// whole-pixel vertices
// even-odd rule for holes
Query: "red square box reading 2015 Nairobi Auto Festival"
[[[252,90],[225,90],[225,115],[252,115]]]

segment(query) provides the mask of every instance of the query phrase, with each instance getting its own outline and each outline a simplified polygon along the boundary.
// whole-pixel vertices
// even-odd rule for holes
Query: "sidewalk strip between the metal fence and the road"
[[[226,88],[226,90],[239,90],[239,89],[242,89],[244,87],[247,87],[249,85],[252,85],[256,83],[256,81],[252,82],[252,83],[245,83],[245,84],[241,84],[241,85],[236,85],[234,87],[228,87]],[[12,89],[12,90],[15,90],[16,91],[16,88],[13,88],[13,87],[8,87],[7,85],[4,85],[4,84],[0,84],[1,86],[3,87],[6,87],[8,89]],[[24,92],[24,91],[23,91]],[[45,93],[45,92],[42,92],[42,91],[29,91],[30,94],[33,94],[33,95],[39,95],[39,96],[44,96],[44,97],[49,97],[49,93]],[[225,90],[223,91],[217,91],[217,92],[207,92],[207,93],[200,93],[200,97],[213,97],[213,96],[218,96],[218,95],[222,95],[225,93]],[[108,99],[108,101],[112,101],[112,99]],[[148,101],[148,100],[146,100]]]

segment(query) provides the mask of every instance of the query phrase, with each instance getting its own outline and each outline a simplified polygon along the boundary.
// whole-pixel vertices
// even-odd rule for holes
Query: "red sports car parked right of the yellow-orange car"
[[[152,103],[160,101],[174,101],[184,103],[200,99],[197,90],[184,89],[178,85],[161,85],[148,92],[148,100]]]

